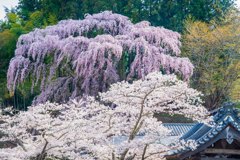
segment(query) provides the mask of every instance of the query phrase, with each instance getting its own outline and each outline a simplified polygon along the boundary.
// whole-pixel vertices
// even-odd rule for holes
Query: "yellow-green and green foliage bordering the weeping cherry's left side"
[[[19,86],[15,94],[8,92],[6,88],[7,69],[10,59],[14,56],[16,42],[20,35],[32,31],[34,28],[42,28],[57,22],[54,15],[45,19],[41,11],[28,14],[28,21],[24,21],[16,13],[7,13],[7,20],[0,24],[0,105],[14,106],[17,109],[26,109],[31,104],[33,97],[38,93],[30,94],[29,83]],[[27,17],[25,17],[27,18]],[[51,57],[46,57],[46,63],[51,63]]]

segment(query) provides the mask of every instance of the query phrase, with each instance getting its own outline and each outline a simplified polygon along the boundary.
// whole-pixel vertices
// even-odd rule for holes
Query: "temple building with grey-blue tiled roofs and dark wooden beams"
[[[234,104],[225,103],[213,113],[212,125],[166,124],[182,140],[195,140],[197,148],[174,150],[169,160],[240,160],[240,112]]]

